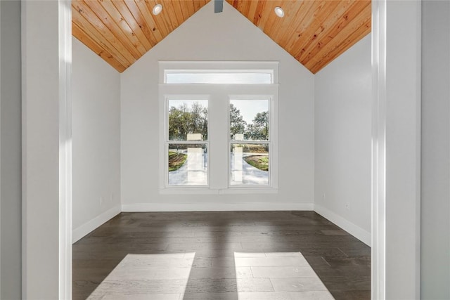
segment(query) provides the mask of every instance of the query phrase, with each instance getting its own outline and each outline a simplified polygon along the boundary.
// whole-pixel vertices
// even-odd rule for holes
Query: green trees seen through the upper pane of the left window
[[[208,138],[207,107],[194,102],[169,109],[169,140],[186,141],[188,133],[200,133],[203,141]]]

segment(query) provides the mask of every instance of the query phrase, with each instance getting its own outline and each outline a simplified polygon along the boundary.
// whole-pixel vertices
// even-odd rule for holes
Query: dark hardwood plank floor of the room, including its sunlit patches
[[[311,274],[308,263],[335,299],[371,298],[370,247],[314,211],[122,213],[72,249],[75,300],[88,298],[113,270],[110,276],[115,275],[115,281],[112,278],[109,284],[121,285],[120,278],[129,275],[126,266],[136,276],[145,275],[145,286],[124,284],[122,288],[128,292],[154,292],[162,285],[158,276],[171,280],[166,294],[147,299],[238,299],[240,290],[259,292],[247,293],[252,296],[244,299],[271,299],[262,296],[269,291],[279,292],[277,299],[329,299],[326,294],[314,294],[328,292],[307,292],[307,283],[295,278],[303,276],[302,272]],[[151,259],[151,270],[159,273],[139,268],[139,263],[150,260],[135,254],[160,258]],[[269,264],[259,266],[258,258]],[[293,261],[292,267],[283,261]],[[187,262],[188,268],[182,268]],[[188,271],[185,275],[181,274],[184,270]],[[283,273],[291,270],[297,275],[286,279]],[[94,294],[91,297],[97,299]]]

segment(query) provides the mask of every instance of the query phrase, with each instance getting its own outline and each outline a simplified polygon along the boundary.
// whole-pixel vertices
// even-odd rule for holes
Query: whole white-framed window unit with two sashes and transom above
[[[277,80],[276,62],[160,62],[162,193],[273,193]]]

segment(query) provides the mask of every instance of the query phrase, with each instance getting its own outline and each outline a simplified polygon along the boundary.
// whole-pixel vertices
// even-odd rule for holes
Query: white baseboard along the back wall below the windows
[[[136,203],[122,204],[122,211],[311,211],[313,203],[267,203],[267,202],[245,202],[245,203]]]

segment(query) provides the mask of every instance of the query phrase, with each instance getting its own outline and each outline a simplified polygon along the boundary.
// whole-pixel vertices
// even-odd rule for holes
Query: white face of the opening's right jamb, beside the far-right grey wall
[[[381,233],[374,236],[385,237],[375,250],[386,254],[386,299],[420,299],[421,2],[380,3],[385,6],[385,20],[378,24],[381,38],[374,48],[384,55],[376,66],[380,72],[374,90],[379,92],[381,109],[375,119],[385,133],[380,131],[374,144],[385,145],[379,149],[385,152],[385,187],[373,188],[380,188],[381,195],[378,214],[373,216]],[[383,278],[383,273],[378,275]]]

